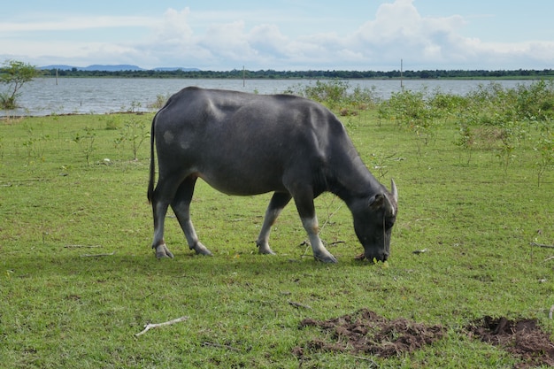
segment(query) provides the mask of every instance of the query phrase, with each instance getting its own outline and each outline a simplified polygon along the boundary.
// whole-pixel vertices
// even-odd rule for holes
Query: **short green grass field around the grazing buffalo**
[[[158,261],[148,144],[135,160],[131,142],[117,142],[130,119],[148,127],[151,115],[0,123],[0,367],[512,367],[516,357],[463,327],[485,315],[525,317],[554,333],[554,250],[529,244],[554,243],[554,173],[537,188],[531,144],[507,168],[489,148],[474,148],[467,162],[452,143],[453,123],[421,146],[409,130],[365,111],[343,121],[365,163],[381,167],[373,173],[385,173],[388,186],[394,178],[400,192],[386,264],[354,260],[362,248],[350,213],[329,195],[317,209],[338,265],[313,261],[292,204],[273,229],[279,255],[260,256],[255,240],[271,195],[230,197],[203,182],[191,212],[214,257],[192,255],[169,219],[175,258]],[[88,256],[97,254],[104,256]],[[447,337],[372,361],[313,352],[299,363],[292,354],[321,338],[317,328],[299,329],[302,319],[364,307],[442,324]],[[135,337],[147,323],[181,316],[189,319]]]

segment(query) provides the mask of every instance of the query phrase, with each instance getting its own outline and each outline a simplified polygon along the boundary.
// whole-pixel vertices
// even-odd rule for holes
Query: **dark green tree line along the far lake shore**
[[[122,77],[122,78],[189,78],[189,79],[551,79],[553,69],[543,70],[399,70],[380,71],[275,71],[273,69],[249,71],[234,69],[231,71],[189,71],[189,70],[141,70],[141,71],[82,71],[46,69],[43,76],[54,77]]]

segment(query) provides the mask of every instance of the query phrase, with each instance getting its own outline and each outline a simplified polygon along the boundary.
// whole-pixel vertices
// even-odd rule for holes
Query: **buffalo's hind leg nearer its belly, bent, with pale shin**
[[[179,186],[173,198],[171,207],[187,238],[189,249],[195,250],[196,254],[199,255],[212,256],[212,252],[198,241],[195,228],[192,226],[192,221],[190,220],[190,201],[192,200],[192,195],[195,190],[195,184],[196,176],[189,176],[185,181],[182,181],[181,186]]]

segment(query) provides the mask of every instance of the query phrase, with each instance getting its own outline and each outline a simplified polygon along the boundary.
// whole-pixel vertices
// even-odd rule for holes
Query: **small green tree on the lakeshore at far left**
[[[39,75],[35,65],[23,63],[19,60],[6,60],[0,68],[0,83],[8,86],[6,92],[0,93],[0,107],[2,109],[17,108],[16,99],[21,95],[19,91],[25,83],[33,81]]]

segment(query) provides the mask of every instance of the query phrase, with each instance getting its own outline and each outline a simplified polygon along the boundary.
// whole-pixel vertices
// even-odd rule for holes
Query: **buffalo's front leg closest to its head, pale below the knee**
[[[302,220],[302,225],[310,238],[313,258],[324,263],[336,263],[336,258],[325,248],[319,239],[318,218],[315,214],[313,204],[313,193],[311,190],[303,191],[295,196],[296,209]]]

